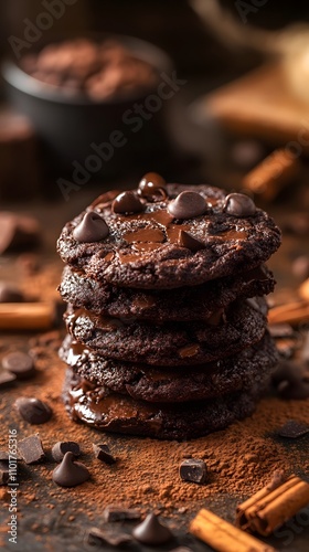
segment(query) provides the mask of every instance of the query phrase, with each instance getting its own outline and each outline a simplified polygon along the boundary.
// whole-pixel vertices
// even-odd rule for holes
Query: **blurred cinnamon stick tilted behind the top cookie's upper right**
[[[243,185],[265,201],[273,201],[297,177],[299,167],[299,160],[288,150],[276,149],[244,177]]]

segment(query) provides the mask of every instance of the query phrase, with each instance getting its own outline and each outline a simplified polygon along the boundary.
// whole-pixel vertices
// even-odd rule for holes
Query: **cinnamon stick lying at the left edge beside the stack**
[[[46,330],[55,320],[52,302],[0,304],[0,330]]]

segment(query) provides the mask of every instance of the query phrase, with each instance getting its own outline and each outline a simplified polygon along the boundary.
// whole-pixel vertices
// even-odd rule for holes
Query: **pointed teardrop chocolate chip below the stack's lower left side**
[[[53,471],[53,481],[61,487],[76,487],[89,479],[90,474],[73,453],[65,453],[62,463]]]

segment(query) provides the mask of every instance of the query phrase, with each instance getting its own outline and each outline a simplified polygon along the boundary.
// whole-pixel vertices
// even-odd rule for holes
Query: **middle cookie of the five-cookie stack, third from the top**
[[[70,306],[65,316],[74,340],[106,358],[177,367],[212,362],[259,341],[266,312],[265,300],[258,298],[236,301],[205,321],[124,322]]]

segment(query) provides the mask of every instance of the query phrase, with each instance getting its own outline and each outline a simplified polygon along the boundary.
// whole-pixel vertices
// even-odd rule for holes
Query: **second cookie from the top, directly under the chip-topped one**
[[[66,266],[60,293],[66,302],[98,315],[159,322],[204,320],[238,297],[267,295],[274,286],[274,276],[265,266],[200,286],[161,290],[100,284]]]

